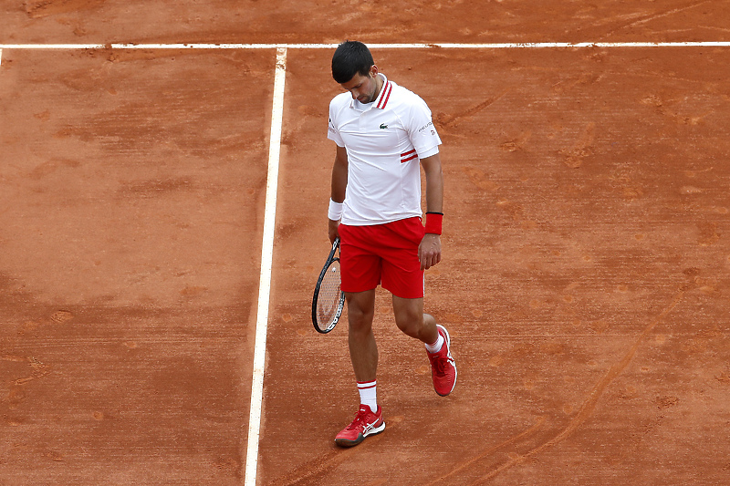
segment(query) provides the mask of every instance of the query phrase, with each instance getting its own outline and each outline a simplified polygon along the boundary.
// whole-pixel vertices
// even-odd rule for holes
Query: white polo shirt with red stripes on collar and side
[[[441,144],[431,110],[382,74],[368,104],[342,93],[329,103],[328,139],[348,152],[344,224],[365,226],[421,216],[420,159]]]

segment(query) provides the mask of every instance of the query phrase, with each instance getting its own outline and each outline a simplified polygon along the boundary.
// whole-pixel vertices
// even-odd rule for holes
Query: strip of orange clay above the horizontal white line
[[[719,0],[25,0],[0,42],[370,43],[726,40]]]

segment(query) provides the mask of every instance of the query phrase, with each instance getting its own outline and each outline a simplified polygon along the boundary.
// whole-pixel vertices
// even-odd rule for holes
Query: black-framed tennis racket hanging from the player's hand
[[[312,324],[318,333],[327,334],[337,326],[342,308],[345,306],[345,295],[339,289],[339,237],[332,243],[327,262],[319,274],[312,298]]]

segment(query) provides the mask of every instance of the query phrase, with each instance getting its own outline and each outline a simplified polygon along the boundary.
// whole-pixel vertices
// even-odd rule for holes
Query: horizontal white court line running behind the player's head
[[[0,49],[334,49],[338,44],[0,44]],[[368,44],[372,49],[528,49],[567,47],[730,47],[730,42],[518,42],[494,44]]]

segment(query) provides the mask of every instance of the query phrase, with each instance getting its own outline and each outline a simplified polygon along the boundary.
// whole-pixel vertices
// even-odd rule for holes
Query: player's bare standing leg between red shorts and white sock
[[[378,369],[378,346],[372,334],[375,289],[345,293],[348,301],[349,358],[358,381],[373,381]]]

